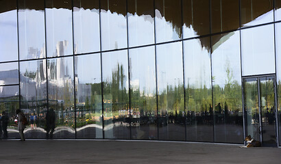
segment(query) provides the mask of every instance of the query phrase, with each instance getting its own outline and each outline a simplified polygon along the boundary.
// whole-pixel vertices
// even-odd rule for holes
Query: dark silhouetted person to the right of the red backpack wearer
[[[53,138],[53,131],[56,128],[56,113],[53,109],[47,111],[46,114],[46,138]]]

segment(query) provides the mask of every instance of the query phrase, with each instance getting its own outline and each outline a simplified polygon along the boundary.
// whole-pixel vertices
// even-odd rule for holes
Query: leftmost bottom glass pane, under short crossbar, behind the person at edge
[[[0,86],[0,113],[2,114],[5,111],[9,118],[7,125],[8,136],[6,136],[8,139],[19,138],[18,125],[16,124],[16,109],[19,109],[19,85]]]

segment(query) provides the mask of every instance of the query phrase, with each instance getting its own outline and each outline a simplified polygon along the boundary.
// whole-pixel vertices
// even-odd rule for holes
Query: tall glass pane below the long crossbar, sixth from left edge
[[[132,139],[157,139],[155,48],[130,49]]]

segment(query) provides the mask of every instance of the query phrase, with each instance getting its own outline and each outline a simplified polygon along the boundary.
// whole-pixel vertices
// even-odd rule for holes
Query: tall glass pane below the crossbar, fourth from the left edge
[[[100,54],[75,57],[77,138],[102,136]]]

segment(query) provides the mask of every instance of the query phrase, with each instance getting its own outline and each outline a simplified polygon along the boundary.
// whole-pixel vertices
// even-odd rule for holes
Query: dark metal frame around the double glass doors
[[[245,93],[244,93],[244,80],[245,79],[252,79],[252,78],[256,78],[258,79],[258,117],[259,117],[259,126],[260,126],[260,129],[259,131],[262,132],[262,122],[261,122],[261,106],[260,106],[260,81],[259,81],[259,78],[262,78],[262,77],[273,77],[274,78],[274,81],[273,81],[273,90],[274,90],[274,110],[275,110],[275,126],[276,126],[276,131],[275,131],[275,134],[276,134],[276,143],[277,143],[277,147],[279,147],[279,132],[278,132],[278,109],[277,109],[277,82],[276,82],[276,74],[262,74],[262,75],[256,75],[256,76],[244,76],[241,78],[241,82],[242,82],[242,105],[243,105],[243,135],[244,135],[244,138],[243,140],[245,139],[246,137],[246,119],[245,117],[247,117],[247,113],[246,113],[246,110],[245,110],[245,102],[244,102],[244,97],[245,97]],[[260,141],[262,142],[262,133],[260,133]],[[246,141],[244,141],[244,143],[246,143]]]

